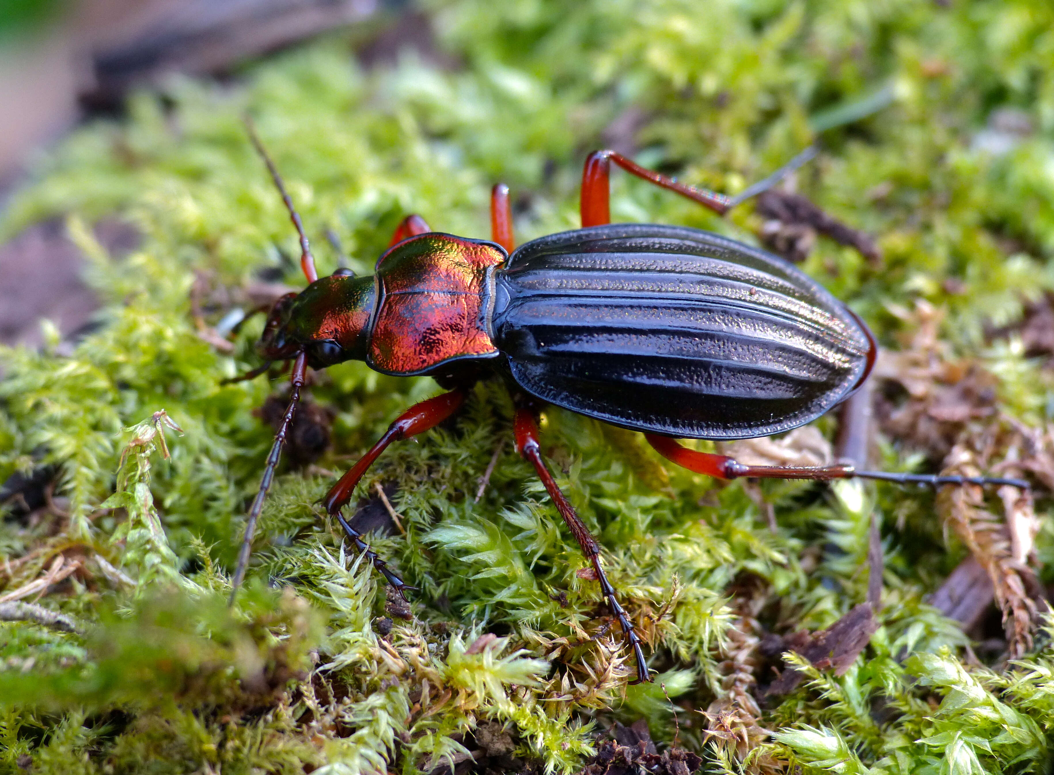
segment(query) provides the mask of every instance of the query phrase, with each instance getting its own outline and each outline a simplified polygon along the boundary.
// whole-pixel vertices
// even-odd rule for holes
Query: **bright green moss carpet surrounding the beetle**
[[[923,602],[968,547],[989,546],[949,530],[948,514],[964,506],[941,510],[915,489],[773,482],[761,492],[774,532],[744,484],[664,466],[635,434],[550,410],[545,452],[606,547],[659,673],[628,686],[596,584],[577,575],[579,549],[508,443],[500,385],[477,386],[455,422],[393,447],[362,486],[364,499],[375,483],[394,487],[406,536],[371,542],[421,587],[412,620],[382,636],[377,575],[314,503],[333,471],[437,389],[362,364],[316,375],[314,401],[335,412],[333,447],[314,467],[282,469],[250,583],[227,609],[271,443],[253,410],[282,383],[221,385],[255,365],[261,321],[218,351],[198,335],[191,291],[198,279],[213,294],[215,324],[222,294],[262,269],[300,283],[246,111],[321,272],[338,260],[326,229],[359,272],[406,213],[487,235],[496,180],[513,191],[521,240],[575,228],[584,154],[611,142],[735,192],[820,139],[799,190],[875,235],[882,259],[820,239],[804,270],[893,349],[918,345],[911,310],[943,310],[941,357],[993,375],[1001,422],[1042,428],[1054,410],[1048,361],[1027,357],[1013,332],[985,338],[1054,290],[1049,3],[448,0],[426,11],[455,69],[407,53],[366,72],[359,31],[228,82],[174,78],[134,95],[119,120],[77,132],[8,208],[6,235],[67,216],[105,309],[72,350],[51,333],[40,352],[0,353],[0,480],[56,471],[50,506],[27,516],[8,505],[0,595],[76,564],[39,601],[76,632],[0,623],[0,769],[413,773],[482,750],[473,730],[490,724],[515,750],[477,753],[486,767],[571,772],[594,733],[643,717],[657,740],[677,736],[714,772],[1041,771],[1054,726],[1049,639],[1037,634],[1016,666],[980,666],[956,622]],[[979,133],[1008,108],[1031,131],[995,148],[984,138],[998,128]],[[91,229],[115,214],[142,234],[119,260]],[[621,175],[612,215],[747,241],[761,226],[749,207],[721,219]],[[148,422],[161,409],[181,434]],[[818,425],[833,431],[831,419]],[[940,463],[911,441],[883,439],[886,467]],[[1031,562],[1042,582],[1054,580],[1054,532],[1048,492],[1037,498]],[[803,667],[811,682],[752,708],[750,685],[772,678],[757,656],[764,631],[822,628],[864,600],[873,512],[885,590],[870,645],[843,676]],[[480,640],[488,633],[500,637]]]

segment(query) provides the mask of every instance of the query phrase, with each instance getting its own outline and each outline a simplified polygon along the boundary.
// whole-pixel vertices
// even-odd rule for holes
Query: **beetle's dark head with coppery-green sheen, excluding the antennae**
[[[267,361],[307,352],[313,369],[363,360],[375,297],[371,276],[338,271],[320,277],[301,293],[287,293],[275,303],[256,350]]]

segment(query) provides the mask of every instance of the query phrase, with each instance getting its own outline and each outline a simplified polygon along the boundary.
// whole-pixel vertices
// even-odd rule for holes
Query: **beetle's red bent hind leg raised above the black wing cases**
[[[703,207],[709,208],[718,215],[724,215],[740,202],[749,199],[752,196],[757,196],[766,189],[770,189],[816,156],[816,147],[809,146],[764,180],[759,180],[737,196],[726,196],[725,194],[718,194],[717,192],[701,189],[697,186],[688,186],[675,178],[660,175],[658,172],[641,167],[636,161],[614,151],[593,151],[586,157],[585,169],[582,171],[582,228],[603,226],[611,222],[609,177],[611,171],[610,162],[612,161],[630,175],[636,175],[667,191],[674,191],[681,196],[686,196],[692,201],[698,201]]]

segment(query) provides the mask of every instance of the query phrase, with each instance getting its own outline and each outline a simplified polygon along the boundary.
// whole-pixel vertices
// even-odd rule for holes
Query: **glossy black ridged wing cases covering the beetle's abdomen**
[[[870,334],[764,251],[614,224],[527,243],[497,272],[494,334],[544,401],[637,430],[742,439],[823,414],[866,373]]]

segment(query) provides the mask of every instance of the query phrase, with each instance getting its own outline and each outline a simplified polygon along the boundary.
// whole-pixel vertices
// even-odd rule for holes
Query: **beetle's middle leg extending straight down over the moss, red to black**
[[[637,660],[637,680],[633,683],[650,681],[651,678],[648,676],[647,663],[644,661],[644,650],[641,647],[641,637],[633,628],[633,623],[629,620],[626,609],[616,599],[614,587],[607,580],[607,574],[604,573],[604,567],[600,564],[600,544],[597,543],[597,539],[589,532],[589,528],[585,526],[578,514],[574,512],[574,507],[561,491],[560,487],[557,486],[552,473],[549,472],[545,461],[542,460],[542,450],[538,441],[538,423],[534,422],[534,413],[529,407],[520,407],[516,409],[514,427],[516,451],[534,465],[534,470],[538,471],[539,479],[545,485],[545,489],[555,504],[557,510],[560,511],[560,516],[564,518],[564,522],[567,523],[568,528],[570,528],[578,540],[579,545],[582,547],[582,554],[592,564],[593,571],[597,574],[597,580],[600,582],[601,593],[603,593],[608,607],[611,608],[611,613],[619,620],[619,624],[622,625],[623,635],[633,650],[633,657]]]

